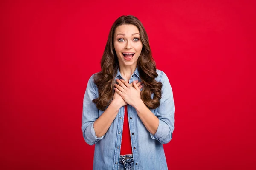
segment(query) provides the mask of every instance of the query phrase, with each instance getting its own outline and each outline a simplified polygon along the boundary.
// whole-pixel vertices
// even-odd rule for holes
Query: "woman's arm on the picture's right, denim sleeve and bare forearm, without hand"
[[[161,75],[162,98],[160,99],[160,106],[156,108],[156,116],[146,107],[143,102],[138,102],[134,108],[143,124],[150,132],[152,139],[156,139],[162,144],[167,144],[172,139],[174,130],[174,100],[172,87],[169,79],[164,72]],[[153,135],[154,134],[154,135]]]

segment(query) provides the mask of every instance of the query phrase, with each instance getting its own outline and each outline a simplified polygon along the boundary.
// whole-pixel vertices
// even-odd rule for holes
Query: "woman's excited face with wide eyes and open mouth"
[[[136,26],[125,24],[116,27],[113,42],[119,65],[137,65],[143,44]]]

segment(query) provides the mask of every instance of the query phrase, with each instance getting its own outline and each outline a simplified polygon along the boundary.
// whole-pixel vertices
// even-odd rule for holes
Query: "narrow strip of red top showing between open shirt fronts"
[[[120,155],[127,155],[127,154],[132,154],[127,105],[125,105],[125,116],[123,117],[123,121],[124,121],[124,126],[123,126],[123,132],[122,132]]]

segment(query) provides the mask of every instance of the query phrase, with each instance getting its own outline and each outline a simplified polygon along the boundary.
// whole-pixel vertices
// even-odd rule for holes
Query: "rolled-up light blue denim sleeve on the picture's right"
[[[169,79],[164,72],[161,76],[162,82],[162,98],[160,99],[160,106],[156,108],[156,116],[159,119],[157,132],[153,135],[150,133],[152,139],[156,139],[162,144],[167,144],[172,139],[174,130],[174,100],[172,87]]]

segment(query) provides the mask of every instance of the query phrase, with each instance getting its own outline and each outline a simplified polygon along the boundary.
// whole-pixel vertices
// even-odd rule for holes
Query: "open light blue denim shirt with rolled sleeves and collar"
[[[162,82],[162,98],[160,106],[150,109],[159,119],[159,126],[155,134],[151,134],[143,124],[134,107],[128,105],[128,119],[132,155],[134,159],[134,170],[168,170],[163,144],[167,144],[172,139],[174,130],[174,100],[172,87],[169,79],[163,71],[157,69],[156,81]],[[94,75],[94,74],[93,74]],[[93,82],[93,75],[90,77],[83,99],[82,111],[82,133],[87,144],[95,144],[93,170],[118,170],[119,155],[122,146],[122,131],[124,123],[125,107],[122,106],[116,118],[105,135],[95,136],[93,128],[94,121],[102,115],[104,111],[96,108],[92,102],[99,96],[98,88]],[[120,71],[117,71],[115,79],[121,79]],[[122,78],[123,79],[123,78]],[[129,83],[139,80],[138,68],[131,75]],[[142,90],[142,89],[141,89]],[[153,98],[153,93],[151,98]],[[127,118],[125,118],[127,119]],[[125,146],[130,147],[130,146]]]

